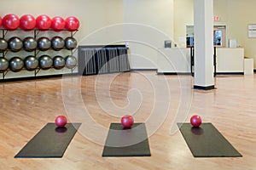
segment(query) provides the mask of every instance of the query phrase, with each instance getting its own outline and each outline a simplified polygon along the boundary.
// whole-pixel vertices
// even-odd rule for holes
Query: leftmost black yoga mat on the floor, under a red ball
[[[67,123],[56,127],[47,123],[15,156],[15,158],[60,158],[73,139],[81,123]]]

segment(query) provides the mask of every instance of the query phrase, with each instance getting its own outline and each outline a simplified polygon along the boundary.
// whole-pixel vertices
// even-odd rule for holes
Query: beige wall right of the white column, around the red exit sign
[[[254,59],[256,69],[256,38],[249,38],[248,24],[256,24],[255,0],[214,0],[214,14],[220,17],[216,24],[227,25],[227,38],[237,40],[246,57]]]

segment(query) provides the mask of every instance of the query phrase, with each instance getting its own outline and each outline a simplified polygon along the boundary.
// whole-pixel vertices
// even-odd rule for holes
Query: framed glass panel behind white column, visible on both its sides
[[[186,26],[187,48],[194,46],[194,26]],[[226,47],[226,26],[213,26],[213,45],[215,47]]]

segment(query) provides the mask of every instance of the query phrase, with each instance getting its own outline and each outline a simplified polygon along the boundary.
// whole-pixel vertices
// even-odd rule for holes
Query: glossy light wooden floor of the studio
[[[151,71],[2,82],[0,169],[256,169],[256,76],[218,76],[215,84],[195,90],[192,77]],[[152,156],[102,157],[110,122],[124,114],[146,122]],[[194,158],[176,127],[194,114],[212,122],[242,157]],[[83,125],[65,155],[15,159],[58,115]]]

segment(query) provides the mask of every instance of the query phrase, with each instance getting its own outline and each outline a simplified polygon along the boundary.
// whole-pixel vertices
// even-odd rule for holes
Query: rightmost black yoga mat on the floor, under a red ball
[[[241,154],[218,132],[212,123],[192,127],[190,123],[177,123],[194,157],[240,157]]]

